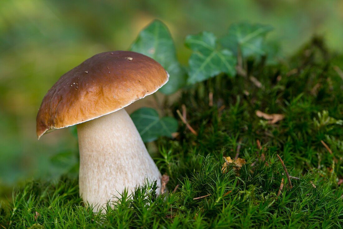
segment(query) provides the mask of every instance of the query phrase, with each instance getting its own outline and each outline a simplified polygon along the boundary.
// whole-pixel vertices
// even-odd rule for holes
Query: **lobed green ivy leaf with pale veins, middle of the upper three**
[[[218,50],[216,40],[215,35],[209,32],[186,37],[185,44],[193,51],[189,58],[187,83],[201,82],[221,72],[229,76],[236,74],[236,58],[227,49]]]

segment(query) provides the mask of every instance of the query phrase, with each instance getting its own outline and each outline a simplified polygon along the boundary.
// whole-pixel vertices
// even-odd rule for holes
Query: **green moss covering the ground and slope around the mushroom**
[[[170,176],[168,194],[156,197],[154,184],[138,187],[106,214],[93,214],[79,198],[77,180],[32,181],[2,205],[0,227],[342,228],[343,81],[333,67],[343,67],[343,56],[329,54],[316,38],[287,64],[246,66],[261,88],[220,75],[184,90],[171,106],[176,116],[186,105],[198,136],[180,122],[176,139],[156,141],[156,163]],[[285,118],[268,124],[256,110]],[[223,174],[223,156],[237,152],[247,164],[239,174],[232,167]],[[297,178],[292,189],[276,154]]]

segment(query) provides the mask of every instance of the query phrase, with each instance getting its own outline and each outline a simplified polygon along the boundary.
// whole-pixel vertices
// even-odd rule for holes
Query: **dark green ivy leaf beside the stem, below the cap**
[[[178,123],[173,117],[159,118],[153,108],[143,107],[131,114],[131,119],[144,142],[151,142],[158,137],[171,137],[177,131]]]

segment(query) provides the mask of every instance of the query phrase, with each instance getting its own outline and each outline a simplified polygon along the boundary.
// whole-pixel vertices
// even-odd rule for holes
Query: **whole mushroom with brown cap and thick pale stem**
[[[37,137],[77,125],[80,196],[90,205],[104,206],[146,179],[161,187],[161,173],[123,108],[156,92],[168,78],[147,56],[105,52],[65,73],[44,96]]]

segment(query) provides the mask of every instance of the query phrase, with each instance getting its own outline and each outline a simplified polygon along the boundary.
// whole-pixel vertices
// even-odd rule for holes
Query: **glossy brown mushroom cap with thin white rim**
[[[131,51],[109,51],[65,73],[44,96],[37,114],[38,139],[115,112],[161,88],[169,75],[155,60]]]

